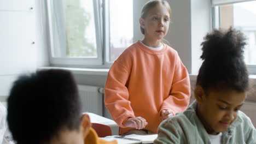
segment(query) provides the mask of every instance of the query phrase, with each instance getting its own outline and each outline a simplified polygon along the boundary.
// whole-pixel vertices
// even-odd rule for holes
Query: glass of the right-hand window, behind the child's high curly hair
[[[256,64],[256,1],[219,6],[219,27],[239,29],[247,37],[246,64]]]

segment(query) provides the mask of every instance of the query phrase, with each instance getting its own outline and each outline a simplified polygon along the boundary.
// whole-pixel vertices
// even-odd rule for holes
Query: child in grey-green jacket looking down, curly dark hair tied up
[[[160,124],[154,143],[256,143],[251,119],[240,111],[248,90],[245,38],[229,29],[207,34],[195,101]]]

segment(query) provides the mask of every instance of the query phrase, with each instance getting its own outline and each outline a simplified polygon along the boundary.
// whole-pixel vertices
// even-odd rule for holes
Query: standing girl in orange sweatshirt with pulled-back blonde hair
[[[189,104],[188,71],[177,51],[162,43],[170,18],[166,1],[146,3],[139,19],[144,39],[128,47],[109,69],[105,105],[120,135],[156,133],[162,120]]]

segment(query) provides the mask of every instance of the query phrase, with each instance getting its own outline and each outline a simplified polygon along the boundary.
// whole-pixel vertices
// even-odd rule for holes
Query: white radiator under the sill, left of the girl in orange
[[[103,92],[102,87],[78,85],[83,112],[92,112],[103,116]]]

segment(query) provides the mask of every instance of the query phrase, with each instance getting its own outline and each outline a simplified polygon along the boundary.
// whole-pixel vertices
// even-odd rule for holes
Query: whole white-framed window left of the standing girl
[[[132,44],[132,2],[48,0],[51,64],[108,67]]]

